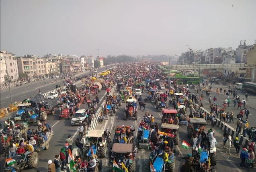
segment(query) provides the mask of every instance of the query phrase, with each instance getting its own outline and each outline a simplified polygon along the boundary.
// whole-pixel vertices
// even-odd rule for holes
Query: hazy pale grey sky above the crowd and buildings
[[[232,7],[233,4],[233,7]],[[256,39],[256,0],[1,0],[0,49],[18,55],[178,54]]]

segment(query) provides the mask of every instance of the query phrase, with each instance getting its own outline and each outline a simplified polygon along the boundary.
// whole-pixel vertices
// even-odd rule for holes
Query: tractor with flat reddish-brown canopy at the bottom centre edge
[[[125,154],[132,154],[132,158],[125,163]],[[109,151],[109,164],[108,164],[108,172],[113,172],[113,163],[116,164],[122,169],[122,162],[124,162],[125,167],[128,172],[136,171],[136,161],[135,155],[133,154],[133,144],[121,144],[114,143],[111,151]]]

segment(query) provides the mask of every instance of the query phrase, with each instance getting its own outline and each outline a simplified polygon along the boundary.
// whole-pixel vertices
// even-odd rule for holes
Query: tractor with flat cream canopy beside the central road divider
[[[84,152],[89,160],[92,155],[97,155],[100,158],[106,157],[106,139],[102,140],[104,130],[90,130],[86,136],[84,144]]]

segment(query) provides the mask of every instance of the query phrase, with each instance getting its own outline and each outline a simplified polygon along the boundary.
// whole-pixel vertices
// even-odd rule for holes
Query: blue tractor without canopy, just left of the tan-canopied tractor
[[[147,149],[150,150],[151,142],[150,142],[150,130],[143,129],[142,126],[138,129],[138,148],[139,149]]]

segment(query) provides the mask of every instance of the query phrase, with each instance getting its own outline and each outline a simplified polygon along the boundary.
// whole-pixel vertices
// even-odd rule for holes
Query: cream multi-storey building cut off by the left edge
[[[5,82],[4,76],[9,76],[9,79],[11,81],[15,81],[18,79],[17,60],[16,57],[12,55],[12,53],[9,53],[7,51],[0,52],[0,83]],[[6,65],[8,70],[6,70]]]

